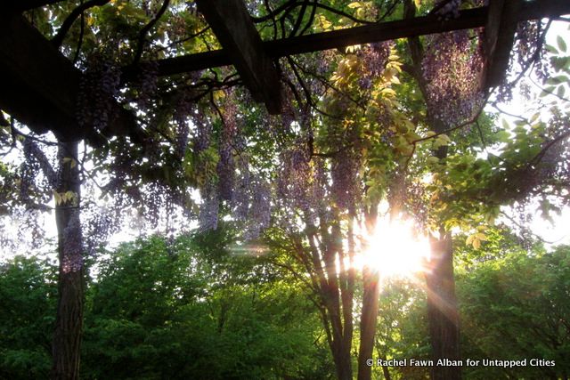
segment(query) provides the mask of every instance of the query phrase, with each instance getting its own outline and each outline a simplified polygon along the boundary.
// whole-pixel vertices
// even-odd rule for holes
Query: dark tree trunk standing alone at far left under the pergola
[[[52,377],[69,380],[79,378],[84,296],[77,142],[60,142],[58,159],[55,220],[60,267]]]

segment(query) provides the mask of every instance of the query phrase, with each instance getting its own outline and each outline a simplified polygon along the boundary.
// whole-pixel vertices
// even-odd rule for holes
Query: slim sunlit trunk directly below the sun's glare
[[[362,314],[360,319],[360,348],[358,350],[358,380],[370,380],[372,368],[366,360],[372,359],[374,336],[379,307],[379,272],[368,266],[362,271],[364,294],[362,296]]]

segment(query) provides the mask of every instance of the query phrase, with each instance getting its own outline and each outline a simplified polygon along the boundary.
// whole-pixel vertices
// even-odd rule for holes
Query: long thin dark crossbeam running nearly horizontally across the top
[[[493,0],[493,2],[494,1],[495,0]],[[570,13],[570,1],[507,1],[521,4],[518,11],[513,14],[513,20],[517,21],[556,17]],[[452,30],[485,27],[487,15],[487,7],[481,7],[461,11],[459,18],[447,21],[438,20],[435,16],[417,17],[411,20],[388,21],[356,28],[315,33],[308,36],[295,36],[275,41],[266,41],[263,45],[267,55],[272,58],[279,58],[293,54],[343,48],[353,44],[369,44],[409,36],[423,36]],[[207,53],[167,58],[159,60],[158,63],[159,75],[171,76],[188,71],[230,65],[232,64],[232,59],[227,51],[223,49]],[[136,68],[126,67],[124,69],[126,77],[132,77],[135,70]]]

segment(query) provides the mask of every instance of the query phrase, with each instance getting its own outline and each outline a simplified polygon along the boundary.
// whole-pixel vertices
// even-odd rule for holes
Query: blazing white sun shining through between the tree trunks
[[[379,219],[374,233],[364,239],[367,247],[356,264],[379,271],[383,277],[411,277],[429,259],[428,239],[414,233],[411,221]]]

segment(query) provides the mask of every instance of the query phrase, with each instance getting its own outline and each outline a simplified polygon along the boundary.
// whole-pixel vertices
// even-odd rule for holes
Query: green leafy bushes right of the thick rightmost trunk
[[[567,376],[569,259],[565,246],[536,256],[518,252],[461,276],[464,357],[556,362],[555,367],[466,368],[468,378]]]

